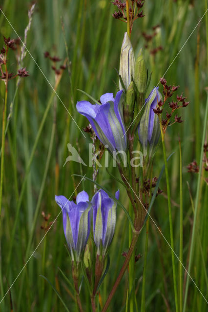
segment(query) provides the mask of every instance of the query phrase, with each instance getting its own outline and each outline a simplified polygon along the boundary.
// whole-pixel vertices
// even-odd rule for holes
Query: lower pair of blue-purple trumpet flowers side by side
[[[119,199],[119,191],[116,192],[115,197]],[[90,233],[91,215],[97,254],[104,256],[114,235],[116,202],[103,190],[99,190],[91,202],[85,191],[77,195],[76,203],[62,195],[56,195],[55,200],[62,208],[63,231],[72,261],[80,262],[83,256]]]

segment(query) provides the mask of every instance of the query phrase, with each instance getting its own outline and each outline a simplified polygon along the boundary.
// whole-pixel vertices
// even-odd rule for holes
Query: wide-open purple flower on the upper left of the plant
[[[126,150],[125,124],[123,117],[123,90],[114,99],[113,93],[105,93],[100,98],[102,105],[92,105],[88,101],[77,102],[77,110],[87,117],[96,136],[113,153]]]

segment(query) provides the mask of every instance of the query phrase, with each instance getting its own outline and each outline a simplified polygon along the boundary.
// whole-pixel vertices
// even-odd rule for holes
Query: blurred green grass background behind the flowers
[[[1,9],[22,39],[28,23],[27,10],[30,4],[26,0],[2,0],[0,3]],[[52,63],[44,58],[43,53],[47,50],[51,55],[58,55],[62,60],[66,58],[62,17],[71,66],[70,75],[67,70],[64,71],[57,93],[81,129],[87,125],[87,120],[76,112],[76,102],[86,99],[86,97],[77,89],[82,89],[97,99],[106,92],[114,92],[114,94],[116,92],[113,80],[118,83],[118,77],[114,68],[119,68],[120,49],[126,25],[112,18],[114,10],[115,7],[109,0],[38,0],[36,4],[31,30],[28,33],[27,48],[54,86]],[[150,55],[148,49],[145,50],[146,66],[149,72],[152,72],[149,91],[163,77],[205,10],[205,1],[146,0],[145,17],[137,20],[133,26],[132,45],[135,55],[137,55],[139,49],[145,45],[142,32],[151,33],[153,26],[161,25],[151,45],[152,48],[162,45],[163,50],[159,51],[156,57]],[[205,20],[204,17],[165,76],[168,84],[179,84],[178,94],[183,91],[190,101],[189,106],[181,110],[184,123],[172,126],[166,134],[167,155],[175,152],[168,161],[168,167],[176,254],[179,254],[180,198],[178,136],[182,142],[185,267],[187,267],[189,259],[194,217],[187,181],[191,196],[195,199],[198,178],[196,174],[187,173],[187,164],[194,159],[198,163],[200,160],[207,99]],[[0,46],[3,45],[3,35],[11,38],[17,37],[2,13],[0,13],[0,35]],[[6,134],[0,224],[1,298],[45,233],[41,229],[44,223],[42,211],[50,214],[49,221],[53,221],[60,213],[60,208],[54,200],[55,194],[69,197],[80,182],[79,177],[71,175],[86,174],[90,178],[92,176],[92,168],[81,167],[75,162],[69,162],[63,167],[68,156],[67,143],[69,142],[80,149],[83,160],[88,163],[90,137],[88,134],[85,134],[86,138],[83,137],[58,98],[53,97],[50,100],[53,90],[28,53],[24,59],[24,66],[29,71],[30,77],[21,80]],[[17,61],[13,51],[9,51],[8,68],[10,72],[17,71]],[[0,82],[0,113],[2,113],[4,89],[4,83]],[[8,111],[15,89],[15,81],[9,81]],[[51,106],[33,155],[33,146],[49,101],[51,101]],[[0,114],[0,118],[2,118],[1,116],[2,114]],[[30,160],[32,160],[31,166],[26,171]],[[159,175],[163,164],[162,147],[160,146],[154,158],[154,176]],[[116,168],[111,169],[114,175],[118,175]],[[203,171],[203,176],[205,174]],[[97,181],[112,193],[120,187],[104,168],[99,171]],[[84,181],[77,191],[82,191],[83,187],[92,197],[93,185]],[[165,175],[161,180],[160,188],[164,190],[164,193],[156,198],[151,216],[169,241]],[[128,200],[125,190],[122,187],[120,189],[122,191],[121,201],[127,208]],[[199,195],[197,231],[190,275],[201,292],[206,295],[208,291],[208,187],[203,178]],[[144,229],[137,243],[137,254],[145,253],[145,237]],[[72,280],[70,259],[64,244],[62,215],[60,215],[11,288],[11,299],[15,312],[64,311],[62,302],[52,287],[40,277],[40,274],[46,276],[56,287],[69,311],[76,311],[74,300],[70,296],[70,293],[73,294],[73,288],[67,285],[58,269],[61,268],[69,280]],[[128,222],[125,214],[118,207],[116,232],[109,251],[109,273],[100,289],[103,303],[122,266],[124,258],[121,254],[127,249]],[[138,311],[141,306],[143,264],[144,257],[141,257],[136,263],[135,274]],[[178,274],[177,259],[176,268]],[[146,311],[174,311],[171,251],[151,220],[146,270]],[[109,311],[125,311],[127,287],[128,278],[125,273]],[[90,300],[84,282],[81,297],[85,311],[90,311]],[[205,299],[190,281],[186,311],[205,312],[207,308]],[[9,293],[1,302],[0,311],[11,311]]]

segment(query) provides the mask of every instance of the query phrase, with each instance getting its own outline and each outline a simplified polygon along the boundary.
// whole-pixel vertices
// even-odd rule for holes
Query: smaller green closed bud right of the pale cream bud
[[[134,82],[140,94],[145,93],[146,89],[146,67],[143,49],[141,48],[136,59]]]

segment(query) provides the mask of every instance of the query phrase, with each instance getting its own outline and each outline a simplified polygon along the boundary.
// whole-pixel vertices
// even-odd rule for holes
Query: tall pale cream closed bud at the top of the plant
[[[132,77],[134,78],[134,68],[135,68],[135,58],[133,47],[131,44],[131,40],[128,37],[128,34],[125,33],[121,47],[119,74],[121,75],[126,90],[128,89]],[[123,86],[120,81],[119,87],[120,90],[123,89]]]

